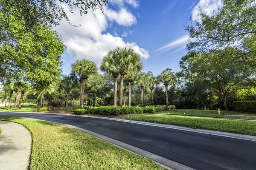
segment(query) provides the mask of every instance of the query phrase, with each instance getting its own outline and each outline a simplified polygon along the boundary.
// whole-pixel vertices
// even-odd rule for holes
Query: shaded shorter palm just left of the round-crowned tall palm
[[[60,89],[64,89],[67,92],[67,98],[66,98],[66,105],[65,107],[68,107],[68,100],[70,96],[70,91],[74,88],[74,81],[75,78],[73,76],[63,76],[63,79],[61,80],[61,83],[59,85]]]

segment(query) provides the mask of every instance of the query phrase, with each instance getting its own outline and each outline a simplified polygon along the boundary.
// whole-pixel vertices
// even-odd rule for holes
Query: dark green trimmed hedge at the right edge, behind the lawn
[[[235,101],[233,102],[235,111],[256,113],[256,101]]]

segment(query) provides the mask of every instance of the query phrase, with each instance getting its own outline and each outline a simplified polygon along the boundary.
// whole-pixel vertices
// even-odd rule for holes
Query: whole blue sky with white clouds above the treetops
[[[200,20],[199,8],[212,11],[221,0],[109,0],[105,12],[89,11],[82,17],[68,14],[79,28],[65,21],[55,29],[67,45],[63,72],[69,74],[76,59],[93,60],[99,66],[102,57],[116,46],[128,46],[141,54],[144,71],[160,74],[166,68],[180,71],[179,61],[186,55],[188,39],[184,26],[190,17]]]

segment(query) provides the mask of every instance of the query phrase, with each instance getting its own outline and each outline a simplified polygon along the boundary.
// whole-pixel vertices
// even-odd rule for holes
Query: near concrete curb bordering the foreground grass
[[[23,118],[26,118],[26,117],[23,117]],[[33,119],[33,118],[26,118],[26,119]],[[131,153],[135,153],[137,155],[145,156],[148,159],[152,159],[155,163],[160,164],[161,166],[163,166],[163,167],[165,167],[167,169],[170,169],[170,170],[195,170],[194,168],[187,167],[186,165],[179,164],[179,163],[177,163],[175,161],[171,161],[171,160],[166,159],[166,158],[164,158],[162,156],[158,156],[158,155],[156,155],[154,153],[148,152],[148,151],[140,149],[138,147],[134,147],[134,146],[132,146],[130,144],[126,144],[124,142],[120,142],[120,141],[118,141],[116,139],[109,138],[109,137],[101,135],[99,133],[92,132],[90,130],[86,130],[86,129],[83,129],[83,128],[80,128],[80,127],[76,127],[76,126],[72,126],[72,125],[67,125],[67,124],[63,124],[63,123],[47,121],[47,120],[41,120],[41,119],[34,119],[34,120],[40,120],[40,121],[51,122],[51,123],[55,123],[55,124],[59,124],[59,125],[64,125],[66,127],[70,127],[70,128],[79,130],[81,132],[88,133],[88,134],[90,134],[92,136],[95,136],[96,138],[105,140],[106,142],[109,142],[109,143],[111,143],[111,144],[113,144],[113,145],[115,145],[117,147],[120,147],[120,148],[122,148],[124,150],[127,150],[127,151],[129,151]]]

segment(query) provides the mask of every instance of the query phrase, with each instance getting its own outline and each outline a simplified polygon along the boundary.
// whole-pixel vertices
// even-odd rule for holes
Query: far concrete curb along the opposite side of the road
[[[127,119],[117,119],[117,118],[87,116],[87,115],[74,115],[74,114],[65,114],[65,113],[40,113],[40,112],[10,112],[10,113],[39,113],[39,114],[90,117],[90,118],[95,118],[95,119],[107,119],[107,120],[115,120],[115,121],[119,121],[119,122],[128,122],[128,123],[135,123],[135,124],[140,124],[140,125],[149,125],[149,126],[155,126],[155,127],[165,127],[165,128],[170,128],[170,129],[185,130],[185,131],[190,131],[190,132],[204,133],[204,134],[216,135],[216,136],[224,136],[224,137],[229,137],[229,138],[243,139],[243,140],[249,140],[249,141],[256,142],[256,136],[242,135],[242,134],[228,133],[228,132],[220,132],[220,131],[215,131],[215,130],[193,129],[193,128],[190,128],[190,127],[182,127],[182,126],[176,126],[176,125],[166,125],[166,124],[160,124],[160,123],[134,121],[134,120],[127,120]]]

